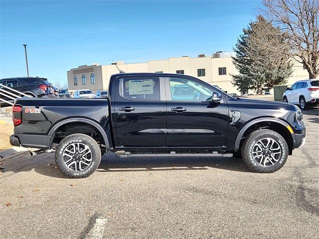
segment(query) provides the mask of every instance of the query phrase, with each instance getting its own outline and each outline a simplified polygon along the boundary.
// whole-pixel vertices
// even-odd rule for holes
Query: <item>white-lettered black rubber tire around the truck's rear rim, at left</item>
[[[91,150],[92,161],[90,165],[82,171],[75,171],[68,168],[63,159],[63,152],[66,147],[72,143],[80,142]],[[82,133],[71,134],[61,140],[55,150],[55,163],[62,174],[68,178],[86,178],[90,176],[99,167],[101,162],[101,150],[98,143],[90,136]]]

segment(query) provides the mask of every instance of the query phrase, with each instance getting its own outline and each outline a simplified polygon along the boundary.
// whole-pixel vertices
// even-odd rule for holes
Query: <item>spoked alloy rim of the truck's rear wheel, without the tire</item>
[[[73,171],[85,170],[92,162],[91,149],[83,143],[71,143],[62,155],[64,165]]]

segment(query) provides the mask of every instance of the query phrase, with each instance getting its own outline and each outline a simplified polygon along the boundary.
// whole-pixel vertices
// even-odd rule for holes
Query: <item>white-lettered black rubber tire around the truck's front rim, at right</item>
[[[259,162],[253,158],[253,147],[258,140],[263,138],[276,140],[282,150],[279,160],[274,165],[268,167],[260,165]],[[253,131],[246,137],[242,146],[243,161],[250,170],[257,173],[273,173],[279,170],[286,163],[288,152],[289,148],[283,136],[270,129],[258,129]]]

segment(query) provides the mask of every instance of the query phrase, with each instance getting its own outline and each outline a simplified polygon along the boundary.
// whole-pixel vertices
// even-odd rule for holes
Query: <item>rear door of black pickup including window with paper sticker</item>
[[[117,139],[125,147],[160,147],[166,137],[166,102],[161,75],[123,76],[116,80]]]

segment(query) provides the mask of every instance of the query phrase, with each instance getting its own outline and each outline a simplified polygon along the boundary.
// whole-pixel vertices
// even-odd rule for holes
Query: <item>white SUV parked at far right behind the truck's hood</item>
[[[319,104],[319,80],[297,81],[290,88],[287,88],[283,95],[283,102],[300,105],[302,110],[307,106]]]

